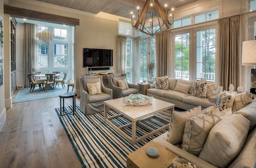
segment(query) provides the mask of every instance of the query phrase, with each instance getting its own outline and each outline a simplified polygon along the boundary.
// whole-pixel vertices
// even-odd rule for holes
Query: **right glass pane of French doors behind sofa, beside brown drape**
[[[215,81],[215,29],[196,34],[196,79]]]

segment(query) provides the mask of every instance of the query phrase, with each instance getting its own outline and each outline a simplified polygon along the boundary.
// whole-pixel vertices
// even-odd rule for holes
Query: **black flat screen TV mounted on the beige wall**
[[[83,67],[113,66],[113,50],[83,48]]]

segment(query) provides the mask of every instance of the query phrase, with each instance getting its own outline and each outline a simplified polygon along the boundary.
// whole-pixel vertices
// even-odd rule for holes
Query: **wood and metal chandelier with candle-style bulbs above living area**
[[[141,12],[139,13],[139,6],[137,7],[138,11],[138,19],[136,20],[136,23],[134,24],[135,15],[133,12],[131,12],[131,20],[132,20],[132,26],[133,29],[136,29],[138,31],[141,31],[145,34],[148,34],[150,36],[154,36],[156,34],[159,34],[169,28],[173,25],[173,11],[174,8],[172,7],[170,9],[170,12],[168,13],[167,4],[164,5],[164,9],[159,4],[158,0],[146,0]],[[147,17],[149,13],[149,17]],[[154,17],[157,17],[157,19],[154,20]],[[148,21],[148,22],[147,22]],[[154,21],[157,23],[155,24]],[[147,28],[145,25],[148,25],[149,28]],[[154,26],[158,26],[158,29],[153,30]]]

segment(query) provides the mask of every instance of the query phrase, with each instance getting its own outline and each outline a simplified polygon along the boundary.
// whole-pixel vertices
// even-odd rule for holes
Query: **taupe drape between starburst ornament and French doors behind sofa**
[[[157,64],[157,76],[167,75],[168,68],[170,68],[170,62],[168,57],[170,57],[171,48],[171,34],[170,31],[164,31],[159,33],[155,37],[156,45],[156,64]]]

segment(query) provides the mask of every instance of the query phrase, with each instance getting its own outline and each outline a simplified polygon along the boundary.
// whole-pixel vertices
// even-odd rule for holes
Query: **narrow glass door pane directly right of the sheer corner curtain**
[[[147,80],[147,40],[140,41],[140,81]]]

